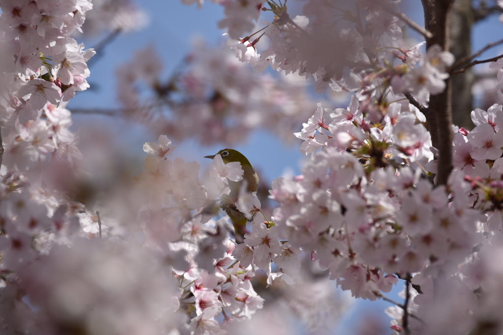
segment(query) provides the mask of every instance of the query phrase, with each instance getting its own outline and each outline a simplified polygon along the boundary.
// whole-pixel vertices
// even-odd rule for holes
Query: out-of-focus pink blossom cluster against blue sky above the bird
[[[151,46],[117,69],[119,116],[178,141],[196,137],[204,145],[235,145],[266,129],[292,142],[291,134],[316,107],[302,77],[254,73],[227,46],[197,43],[173,76],[162,80],[162,70]]]

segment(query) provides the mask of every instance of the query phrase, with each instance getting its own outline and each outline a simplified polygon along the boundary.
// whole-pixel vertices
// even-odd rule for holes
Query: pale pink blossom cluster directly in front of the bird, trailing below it
[[[254,272],[232,257],[235,244],[229,240],[228,218],[213,218],[215,206],[218,209],[215,198],[229,194],[229,181],[242,179],[239,163],[224,164],[217,155],[200,180],[196,162],[167,159],[174,147],[166,136],[143,149],[151,154],[136,186],[139,194],[148,195],[147,203],[138,207],[145,244],[172,255],[183,289],[181,310],[189,316],[191,331],[220,333],[215,320],[220,315],[222,326],[250,318],[263,303],[250,283]]]

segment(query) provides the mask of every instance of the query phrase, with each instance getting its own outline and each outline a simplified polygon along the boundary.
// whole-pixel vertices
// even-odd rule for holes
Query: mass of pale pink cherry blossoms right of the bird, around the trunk
[[[487,255],[497,250],[502,225],[501,105],[475,109],[471,132],[453,126],[454,170],[446,185],[436,186],[432,174],[438,172],[439,152],[418,107],[428,107],[430,95],[444,91],[453,55],[437,45],[422,53],[425,42],[407,46],[399,28],[403,23],[391,14],[399,12],[396,3],[358,2],[367,13],[363,24],[360,15],[323,2],[307,3],[305,16],[293,19],[284,4],[267,5],[274,21],[265,22],[255,40],[256,34],[242,37],[250,31],[249,20],[227,26],[235,56],[256,71],[271,65],[313,75],[318,93],[330,87],[355,95],[348,108],[319,103],[295,133],[304,141],[300,152],[312,154],[311,160],[301,176],[273,182],[271,198],[280,207],[271,221],[254,217],[253,232],[245,235],[236,256],[266,269],[269,282],[281,276],[293,283],[299,254],[310,254],[344,290],[367,299],[382,297],[404,279],[410,302],[407,313],[400,307],[390,311],[396,332],[482,327],[486,319],[480,311],[494,308],[482,292],[495,280],[489,279],[493,263]],[[345,29],[336,30],[336,12],[350,23]],[[236,13],[226,11],[223,21],[232,22]],[[259,53],[256,44],[263,36],[270,44]],[[501,60],[490,67],[500,69]],[[449,293],[441,293],[440,286]],[[462,296],[463,303],[448,296]],[[446,310],[449,315],[441,312]],[[414,316],[408,324],[407,314]],[[460,318],[464,321],[456,323]]]

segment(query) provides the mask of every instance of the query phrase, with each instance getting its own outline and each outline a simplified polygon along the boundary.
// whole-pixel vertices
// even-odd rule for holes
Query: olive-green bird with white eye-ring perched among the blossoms
[[[229,180],[228,186],[230,188],[230,193],[228,195],[224,194],[220,197],[220,207],[227,213],[232,221],[236,243],[241,244],[244,242],[244,234],[247,233],[246,223],[248,222],[248,218],[237,209],[235,202],[239,197],[240,187],[247,185],[246,191],[257,191],[259,187],[259,176],[253,166],[251,166],[248,159],[237,150],[222,149],[215,155],[204,156],[204,158],[213,159],[216,155],[220,155],[225,164],[230,162],[239,162],[241,164],[241,169],[243,170],[243,179],[240,181]]]

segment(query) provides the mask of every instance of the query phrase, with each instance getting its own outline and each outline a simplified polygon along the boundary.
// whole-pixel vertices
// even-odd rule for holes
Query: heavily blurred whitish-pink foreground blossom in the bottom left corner
[[[182,291],[170,267],[161,255],[127,242],[77,239],[71,247],[55,246],[22,266],[19,283],[4,290],[26,294],[15,308],[3,308],[13,331],[156,335],[184,319],[175,314]]]

